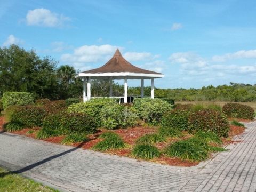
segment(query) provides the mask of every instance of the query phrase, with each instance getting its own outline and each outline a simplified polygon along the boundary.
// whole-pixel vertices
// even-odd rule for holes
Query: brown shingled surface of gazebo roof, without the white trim
[[[135,67],[128,61],[126,61],[121,55],[120,51],[117,49],[113,58],[111,58],[105,65],[97,69],[87,70],[82,73],[143,73],[143,74],[160,74],[154,71],[141,69]]]

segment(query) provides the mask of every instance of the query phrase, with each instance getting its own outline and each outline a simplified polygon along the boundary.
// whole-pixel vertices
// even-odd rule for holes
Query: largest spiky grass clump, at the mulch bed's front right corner
[[[163,153],[170,157],[178,157],[181,161],[204,161],[209,157],[209,146],[194,138],[171,143],[163,149]]]

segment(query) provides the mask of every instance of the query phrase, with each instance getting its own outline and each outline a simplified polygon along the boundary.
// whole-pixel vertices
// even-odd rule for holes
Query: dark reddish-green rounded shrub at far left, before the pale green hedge
[[[41,127],[46,111],[38,106],[23,106],[17,108],[11,115],[11,122],[18,122],[27,127]]]

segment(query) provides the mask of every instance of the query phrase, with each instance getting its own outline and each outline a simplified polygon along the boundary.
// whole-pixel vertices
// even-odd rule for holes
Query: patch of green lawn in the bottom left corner
[[[0,191],[41,191],[41,192],[58,192],[58,190],[51,189],[50,187],[43,186],[33,180],[21,177],[7,170],[0,168]]]

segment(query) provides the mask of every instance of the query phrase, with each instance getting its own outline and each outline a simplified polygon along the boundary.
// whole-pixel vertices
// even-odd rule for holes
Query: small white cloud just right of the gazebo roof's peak
[[[130,61],[151,61],[160,57],[160,55],[152,55],[151,53],[148,53],[148,52],[142,52],[142,53],[126,52],[125,54],[123,54],[123,57],[129,62]]]

